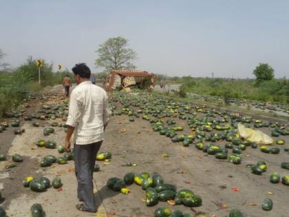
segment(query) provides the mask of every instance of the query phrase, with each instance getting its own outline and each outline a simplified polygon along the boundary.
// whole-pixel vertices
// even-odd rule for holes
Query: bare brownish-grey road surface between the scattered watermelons
[[[58,90],[57,88],[54,90]],[[41,103],[35,99],[28,112],[35,113],[43,103],[54,105],[60,101],[49,99]],[[117,107],[120,110],[122,105],[118,104]],[[190,132],[185,121],[175,119],[178,125],[184,127],[184,133]],[[215,214],[218,217],[228,216],[231,209],[239,209],[244,216],[250,217],[288,217],[288,186],[269,182],[270,174],[273,172],[279,172],[281,176],[289,176],[289,171],[280,167],[281,162],[289,162],[289,155],[283,152],[283,145],[273,145],[281,148],[278,155],[265,154],[260,152],[259,148],[248,147],[243,152],[242,164],[233,165],[197,150],[194,145],[183,147],[182,143],[172,143],[170,138],[153,132],[148,121],[139,118],[130,122],[126,115],[112,116],[105,133],[105,141],[100,148],[100,151],[111,152],[112,158],[109,164],[98,161],[100,172],[94,173],[98,214],[77,211],[73,161],[54,167],[39,166],[40,159],[47,154],[62,156],[58,154],[57,149],[46,149],[35,145],[40,139],[45,141],[51,139],[63,145],[65,139],[63,127],[55,127],[54,134],[43,136],[43,128],[50,126],[53,121],[40,121],[40,127],[33,127],[32,121],[21,121],[21,127],[25,129],[22,135],[14,136],[12,127],[0,134],[0,154],[8,155],[8,161],[0,162],[0,191],[5,198],[0,206],[6,209],[8,216],[28,216],[31,205],[41,203],[46,216],[49,217],[153,216],[157,207],[180,209],[190,214],[202,211],[206,216]],[[64,123],[60,118],[56,121]],[[269,129],[261,130],[270,133]],[[288,136],[280,136],[280,138],[285,139],[286,144],[289,145]],[[5,169],[6,165],[12,163],[10,156],[15,153],[23,156],[23,162],[17,163],[17,167]],[[163,154],[167,154],[167,157]],[[268,171],[261,176],[251,174],[250,169],[246,167],[257,161],[266,161],[268,165]],[[122,167],[122,164],[127,162],[137,165]],[[171,206],[164,202],[160,202],[155,207],[146,207],[142,202],[145,195],[141,187],[133,184],[128,187],[131,193],[125,195],[113,192],[105,186],[108,178],[113,176],[122,178],[127,172],[149,172],[150,174],[158,172],[163,176],[165,183],[174,184],[178,189],[191,189],[195,194],[202,196],[203,205],[194,208],[194,211],[183,205]],[[50,188],[43,193],[32,192],[21,184],[26,176],[46,176],[50,180],[58,176],[63,181],[63,188],[60,190]],[[261,209],[261,203],[265,198],[273,200],[272,211]],[[221,204],[225,204],[227,208],[221,209]]]

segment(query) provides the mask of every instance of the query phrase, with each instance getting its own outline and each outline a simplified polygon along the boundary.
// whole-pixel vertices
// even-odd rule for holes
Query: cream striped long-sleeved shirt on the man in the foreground
[[[78,84],[69,100],[66,125],[75,127],[74,143],[87,145],[103,141],[104,125],[109,121],[111,112],[107,93],[91,81]]]

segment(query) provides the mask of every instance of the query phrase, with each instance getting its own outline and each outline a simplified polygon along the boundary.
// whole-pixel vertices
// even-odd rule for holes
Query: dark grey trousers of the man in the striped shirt
[[[77,178],[77,197],[83,200],[83,209],[96,211],[94,201],[94,165],[103,141],[89,145],[74,145],[74,165]]]

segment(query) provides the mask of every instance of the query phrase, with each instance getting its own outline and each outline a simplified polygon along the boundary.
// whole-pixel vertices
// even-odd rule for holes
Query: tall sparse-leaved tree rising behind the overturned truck
[[[105,43],[99,45],[98,59],[95,65],[105,68],[106,72],[111,70],[135,69],[132,61],[136,59],[136,52],[127,48],[128,40],[122,37],[108,39]]]

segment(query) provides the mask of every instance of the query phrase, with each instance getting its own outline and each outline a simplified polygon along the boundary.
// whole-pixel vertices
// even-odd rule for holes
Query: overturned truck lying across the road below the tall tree
[[[109,73],[106,89],[120,90],[125,87],[153,89],[156,84],[156,75],[145,71],[112,70]]]

